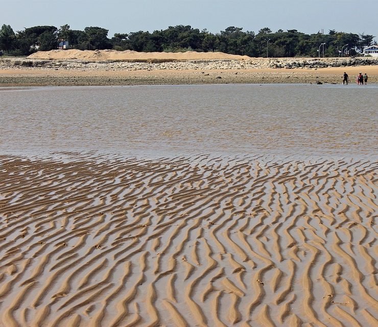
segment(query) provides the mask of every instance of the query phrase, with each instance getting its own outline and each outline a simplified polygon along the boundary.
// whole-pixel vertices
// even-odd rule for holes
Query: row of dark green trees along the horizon
[[[108,38],[108,30],[86,27],[84,31],[71,30],[69,25],[34,26],[16,33],[9,25],[0,30],[0,49],[5,54],[29,55],[35,51],[58,48],[60,41],[68,41],[67,49],[113,49],[144,52],[220,51],[250,57],[324,57],[356,56],[365,46],[373,44],[373,35],[353,34],[330,30],[328,34],[304,34],[297,30],[273,33],[263,28],[257,34],[243,32],[243,28],[230,26],[212,34],[191,26],[170,26],[166,30],[150,32],[116,33]]]

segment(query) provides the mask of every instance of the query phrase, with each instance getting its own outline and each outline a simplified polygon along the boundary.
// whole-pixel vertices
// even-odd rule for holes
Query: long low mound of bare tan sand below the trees
[[[55,60],[148,60],[148,59],[177,59],[177,60],[206,60],[206,59],[248,59],[248,56],[229,55],[223,52],[136,52],[131,50],[52,50],[39,51],[30,59]]]

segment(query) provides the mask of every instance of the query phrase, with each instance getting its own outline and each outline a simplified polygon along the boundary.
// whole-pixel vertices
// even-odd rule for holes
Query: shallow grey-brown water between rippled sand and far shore
[[[378,85],[1,88],[0,151],[377,154]]]

